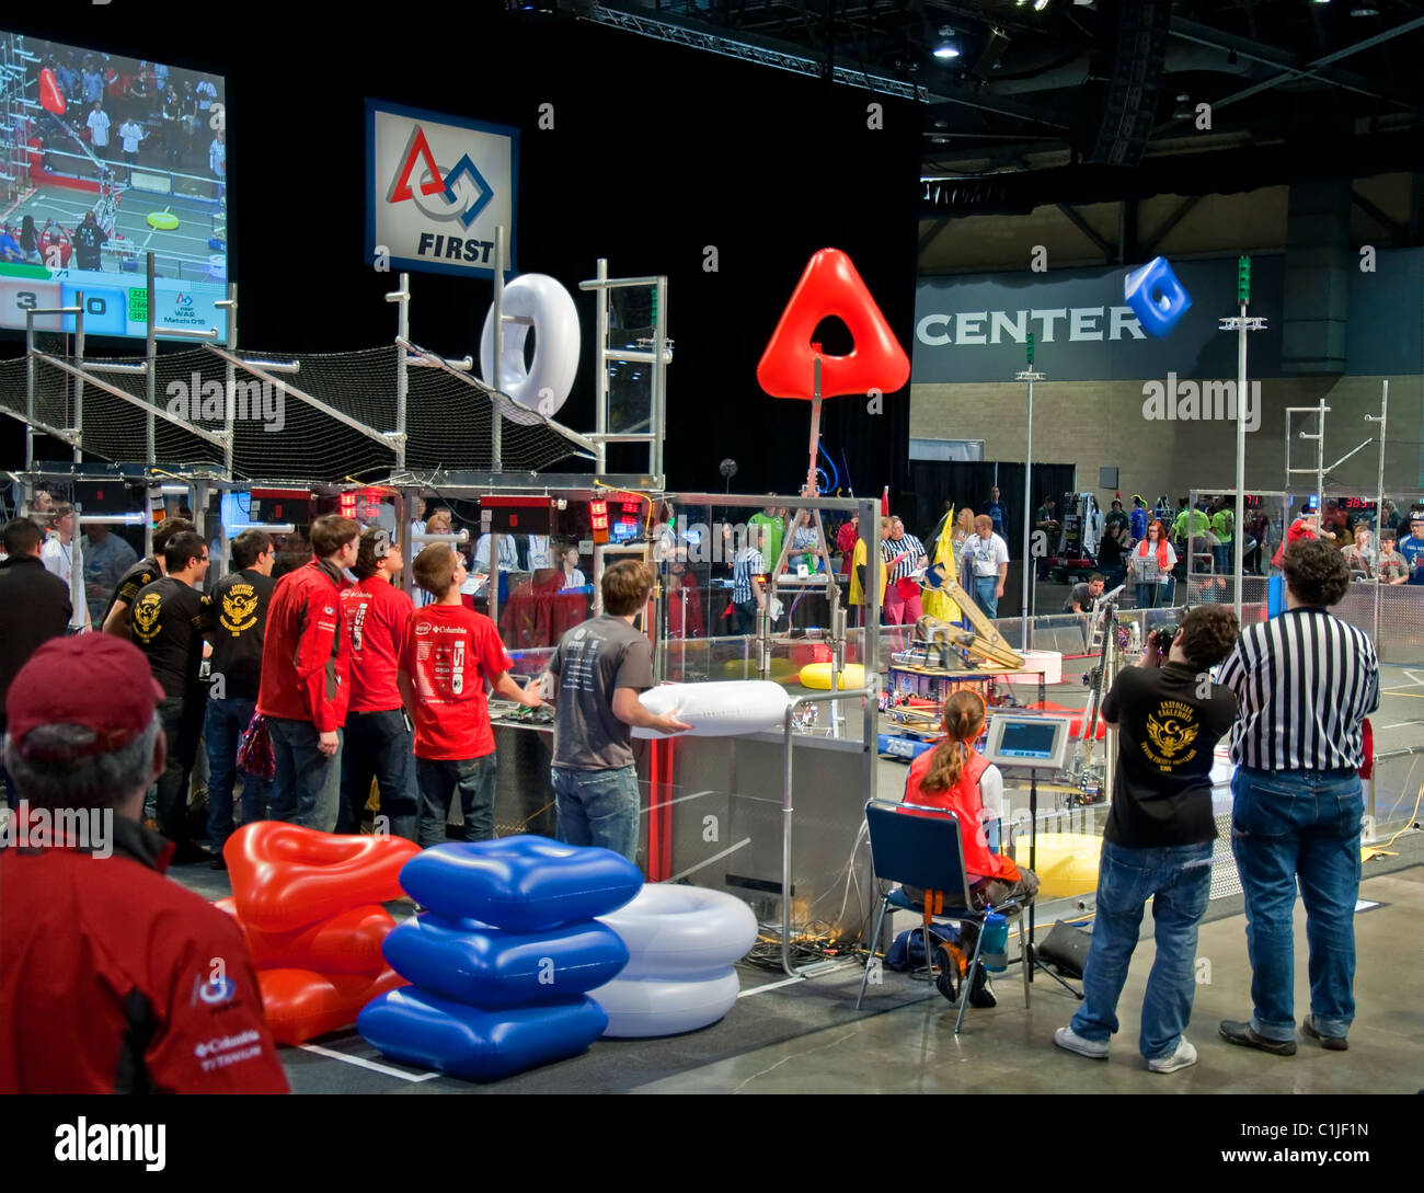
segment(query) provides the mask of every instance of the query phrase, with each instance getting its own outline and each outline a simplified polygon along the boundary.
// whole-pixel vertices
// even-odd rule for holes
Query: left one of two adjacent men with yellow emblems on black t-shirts
[[[206,860],[188,833],[188,777],[198,755],[206,695],[198,671],[202,635],[209,629],[211,606],[192,585],[208,574],[208,545],[201,534],[175,534],[164,551],[167,575],[140,589],[130,609],[134,645],[148,656],[154,679],[164,689],[158,716],[164,726],[168,760],[158,776],[154,804],[158,831],[178,844],[174,866]]]

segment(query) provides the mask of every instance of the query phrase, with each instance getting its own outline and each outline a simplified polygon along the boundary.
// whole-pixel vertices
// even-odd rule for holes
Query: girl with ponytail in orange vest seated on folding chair
[[[977,692],[956,692],[944,702],[944,737],[933,750],[926,750],[910,766],[904,782],[904,804],[943,809],[960,820],[964,844],[964,868],[970,877],[974,910],[995,907],[1010,897],[1032,898],[1038,893],[1038,876],[1014,864],[1011,857],[994,853],[988,846],[987,820],[1001,820],[1004,811],[1004,776],[997,766],[984,760],[974,743],[984,732],[984,700]],[[924,893],[906,887],[906,895],[918,903]],[[946,891],[953,898],[954,891]],[[960,925],[958,947],[965,957],[974,951],[978,930],[968,921]],[[956,962],[940,948],[940,991],[954,1001]],[[984,965],[975,967],[970,987],[971,1007],[993,1007]]]

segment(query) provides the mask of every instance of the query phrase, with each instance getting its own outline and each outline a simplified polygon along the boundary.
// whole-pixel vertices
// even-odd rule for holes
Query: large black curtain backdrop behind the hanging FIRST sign
[[[215,11],[215,10],[214,10]],[[614,276],[666,273],[672,487],[793,493],[809,404],[756,384],[756,362],[810,255],[850,253],[906,352],[913,343],[918,105],[605,30],[534,23],[474,6],[443,11],[256,3],[165,21],[131,4],[30,6],[0,19],[33,37],[209,70],[226,78],[229,269],[241,343],[333,352],[389,343],[396,275],[363,258],[367,95],[521,130],[518,266],[558,278],[584,323],[574,396],[560,413],[590,430],[594,298],[577,289],[605,256]],[[867,127],[867,104],[883,128]],[[554,130],[538,128],[541,104]],[[716,248],[718,270],[706,272]],[[487,280],[412,275],[412,337],[477,354]],[[23,353],[21,333],[0,352]],[[842,329],[842,335],[843,329]],[[827,352],[846,342],[826,329]],[[93,340],[95,354],[114,342]],[[130,343],[125,350],[141,350]],[[826,403],[824,443],[857,493],[906,483],[909,384],[867,411]],[[40,458],[67,458],[43,441]],[[0,466],[23,461],[0,417]],[[611,467],[618,461],[611,457]],[[567,466],[565,466],[567,467]]]

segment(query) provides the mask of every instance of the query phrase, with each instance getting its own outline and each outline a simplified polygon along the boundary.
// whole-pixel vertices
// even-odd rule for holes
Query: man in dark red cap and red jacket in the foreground
[[[141,823],[162,698],[97,634],[46,642],[6,695],[0,1090],[288,1092],[239,927],[164,877],[174,844]]]

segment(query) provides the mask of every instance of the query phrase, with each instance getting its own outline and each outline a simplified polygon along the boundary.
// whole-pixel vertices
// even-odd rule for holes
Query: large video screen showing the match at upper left
[[[216,327],[228,286],[221,75],[0,30],[0,326],[75,306],[84,332]],[[73,332],[74,316],[36,316]]]

